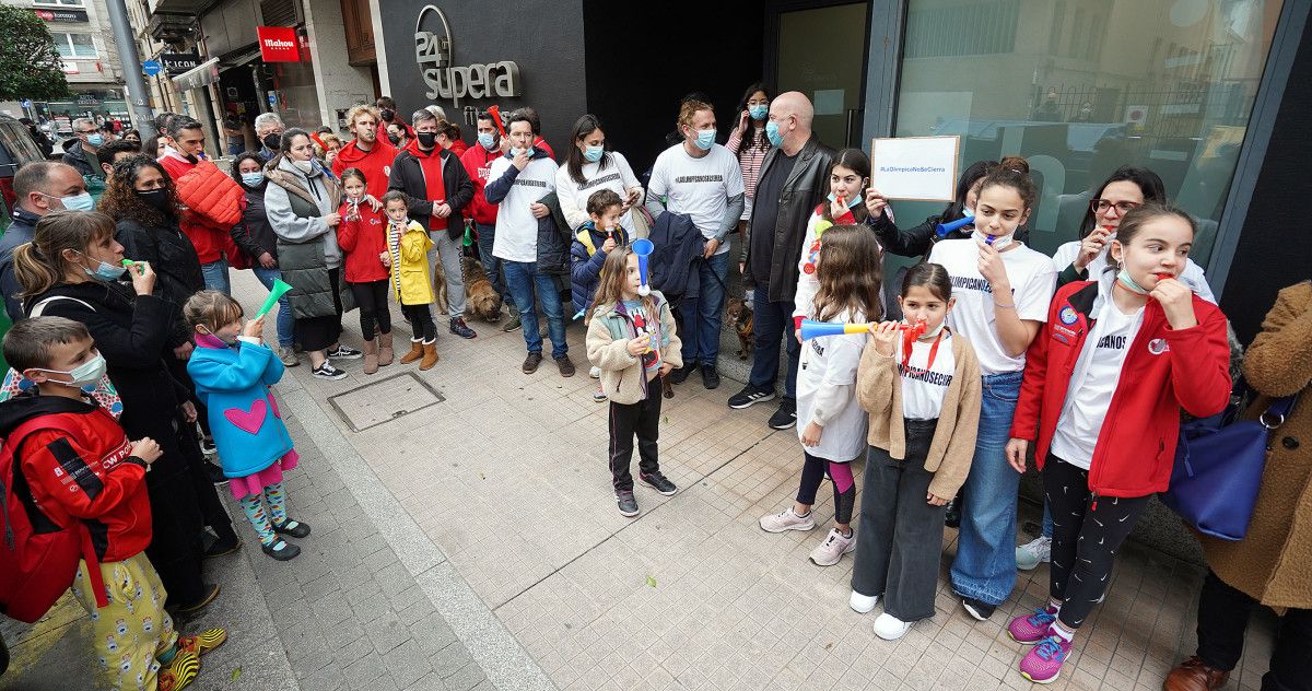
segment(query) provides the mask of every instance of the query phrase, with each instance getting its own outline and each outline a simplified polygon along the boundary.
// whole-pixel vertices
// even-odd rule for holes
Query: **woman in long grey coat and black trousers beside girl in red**
[[[269,185],[264,207],[278,237],[278,266],[291,285],[287,299],[297,317],[295,333],[310,354],[314,375],[344,379],[346,372],[329,358],[357,359],[361,351],[338,342],[344,292],[337,224],[341,186],[315,160],[314,144],[304,130],[282,132],[282,147],[265,168]],[[353,303],[348,303],[353,308]]]

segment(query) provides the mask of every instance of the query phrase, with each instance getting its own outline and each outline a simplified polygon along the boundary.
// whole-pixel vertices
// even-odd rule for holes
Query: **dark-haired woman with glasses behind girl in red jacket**
[[[1089,201],[1089,210],[1080,222],[1080,240],[1059,247],[1052,254],[1052,262],[1060,271],[1057,286],[1097,279],[1107,267],[1107,245],[1117,236],[1120,219],[1145,202],[1166,202],[1166,188],[1157,173],[1131,165],[1117,168]],[[1203,267],[1194,264],[1194,260],[1187,261],[1179,281],[1199,298],[1216,303]]]

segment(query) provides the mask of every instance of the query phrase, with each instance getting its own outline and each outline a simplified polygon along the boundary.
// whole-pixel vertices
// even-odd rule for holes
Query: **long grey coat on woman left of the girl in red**
[[[278,239],[278,269],[291,286],[291,313],[297,319],[336,315],[328,270],[341,266],[341,249],[324,216],[337,211],[341,188],[320,168],[306,176],[281,156],[269,163],[265,177],[264,207]],[[356,303],[345,288],[346,282],[338,281],[342,309],[349,312]]]

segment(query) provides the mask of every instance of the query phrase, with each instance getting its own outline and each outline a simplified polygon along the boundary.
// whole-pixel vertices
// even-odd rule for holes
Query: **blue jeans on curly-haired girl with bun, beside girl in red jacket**
[[[1015,401],[1023,372],[983,378],[975,459],[962,490],[962,528],[953,561],[953,590],[988,604],[1001,604],[1015,585],[1015,500],[1021,473],[1006,463]]]

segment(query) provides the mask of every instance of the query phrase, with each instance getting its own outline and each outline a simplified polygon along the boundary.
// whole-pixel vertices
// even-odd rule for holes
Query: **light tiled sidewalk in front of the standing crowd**
[[[235,278],[253,309],[262,288]],[[354,313],[344,321],[358,332]],[[405,323],[394,323],[404,342]],[[610,489],[607,408],[592,401],[583,329],[569,329],[580,374],[563,379],[550,359],[531,376],[520,371],[521,333],[471,326],[472,341],[440,329],[441,361],[428,372],[398,363],[365,376],[354,361],[346,380],[321,382],[306,366],[289,370],[278,395],[303,455],[289,494],[315,532],[287,564],[249,547],[215,563],[224,593],[185,631],[226,624],[234,637],[206,658],[195,688],[1033,686],[1014,671],[1023,650],[1004,627],[1039,606],[1046,565],[1022,573],[1013,598],[976,623],[946,586],[949,531],[938,614],[897,642],[878,640],[875,614],[846,607],[850,556],[828,569],[806,559],[825,523],[806,535],[756,524],[791,501],[800,460],[795,430],[766,427],[769,404],[731,410],[731,380],[676,387],[664,401],[661,465],[681,490],[639,486],[643,513],[627,519]],[[825,522],[827,493],[816,507]],[[240,523],[239,532],[249,536]],[[1051,686],[1157,691],[1193,652],[1200,576],[1127,545]],[[67,690],[58,679],[87,657],[83,622],[72,604],[25,637],[5,624],[18,669],[0,688]],[[1269,615],[1254,619],[1233,688],[1260,686],[1270,631]]]

